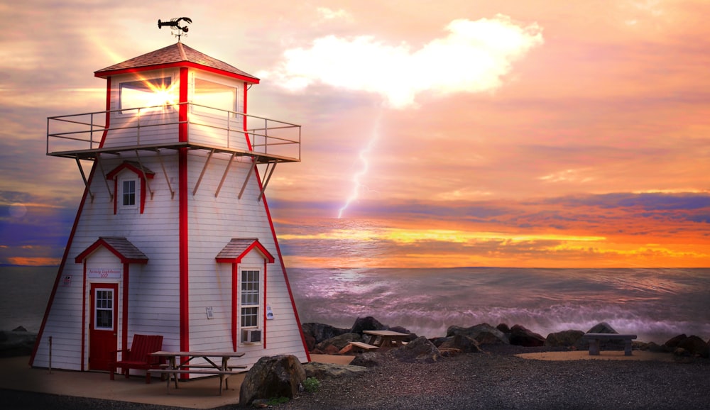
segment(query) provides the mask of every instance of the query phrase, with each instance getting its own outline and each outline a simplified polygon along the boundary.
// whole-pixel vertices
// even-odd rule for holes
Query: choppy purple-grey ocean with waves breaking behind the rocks
[[[0,267],[0,330],[39,330],[56,267]],[[542,336],[606,321],[661,344],[710,338],[710,269],[290,268],[300,320],[349,328],[373,316],[419,336],[519,324]],[[274,312],[278,314],[278,312]]]

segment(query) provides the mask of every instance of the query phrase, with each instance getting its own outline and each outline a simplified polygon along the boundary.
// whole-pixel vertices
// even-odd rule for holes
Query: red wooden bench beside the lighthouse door
[[[129,377],[129,369],[149,370],[160,367],[162,358],[155,358],[151,353],[163,350],[163,336],[133,335],[130,349],[115,350],[109,362],[109,372],[111,380],[117,367],[121,367],[121,373]],[[118,353],[121,353],[121,360],[116,360]],[[146,383],[151,382],[151,373],[146,372]]]

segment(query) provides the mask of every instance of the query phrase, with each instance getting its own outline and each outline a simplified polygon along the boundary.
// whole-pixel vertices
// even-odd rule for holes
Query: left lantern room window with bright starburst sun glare
[[[141,113],[170,109],[178,100],[177,90],[170,77],[121,82],[119,84],[119,109],[121,113]]]

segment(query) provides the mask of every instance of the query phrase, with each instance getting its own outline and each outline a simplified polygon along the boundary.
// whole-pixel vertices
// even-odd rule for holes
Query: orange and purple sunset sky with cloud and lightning
[[[297,4],[296,4],[297,3]],[[710,2],[0,0],[0,265],[58,265],[83,192],[47,117],[182,42],[302,126],[287,267],[710,267]],[[85,165],[88,167],[89,165]]]

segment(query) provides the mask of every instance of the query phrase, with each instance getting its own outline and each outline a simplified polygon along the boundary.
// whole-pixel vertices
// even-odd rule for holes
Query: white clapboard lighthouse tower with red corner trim
[[[48,118],[85,189],[31,365],[107,370],[136,334],[310,360],[264,196],[300,126],[248,115],[259,80],[179,41],[94,74],[105,111]]]

